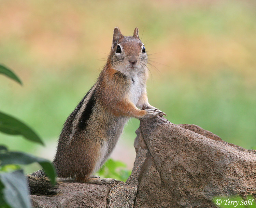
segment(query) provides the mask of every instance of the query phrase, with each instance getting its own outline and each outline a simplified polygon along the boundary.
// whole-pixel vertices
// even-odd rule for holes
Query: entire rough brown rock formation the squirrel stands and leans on
[[[141,120],[136,159],[126,183],[61,183],[57,196],[31,196],[35,208],[216,207],[214,196],[256,197],[256,151],[223,141],[197,125]]]

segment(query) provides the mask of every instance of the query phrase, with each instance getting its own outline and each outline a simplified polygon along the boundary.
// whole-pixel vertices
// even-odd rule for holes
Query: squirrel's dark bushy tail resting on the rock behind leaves
[[[27,175],[31,195],[56,195],[57,187],[51,184],[43,170]]]

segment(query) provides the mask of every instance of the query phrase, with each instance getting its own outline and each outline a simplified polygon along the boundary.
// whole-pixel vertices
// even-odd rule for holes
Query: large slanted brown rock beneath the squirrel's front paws
[[[214,196],[256,196],[254,151],[224,144],[197,126],[185,127],[209,138],[166,119],[141,121],[149,152],[134,207],[215,207]]]

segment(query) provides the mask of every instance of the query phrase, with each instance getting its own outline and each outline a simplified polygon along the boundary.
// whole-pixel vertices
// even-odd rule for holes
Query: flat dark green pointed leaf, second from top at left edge
[[[0,112],[0,131],[5,134],[22,135],[30,141],[44,145],[40,137],[30,127],[3,112]]]

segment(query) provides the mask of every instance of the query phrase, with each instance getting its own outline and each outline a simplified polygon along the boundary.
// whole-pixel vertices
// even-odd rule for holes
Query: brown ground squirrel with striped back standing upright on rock
[[[115,181],[91,175],[109,157],[128,119],[166,115],[148,103],[146,65],[147,53],[138,28],[133,36],[123,36],[116,27],[111,52],[98,80],[63,126],[53,160],[58,177],[90,184]],[[45,178],[42,170],[28,175],[32,194],[54,193],[43,183]]]

